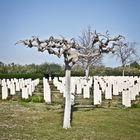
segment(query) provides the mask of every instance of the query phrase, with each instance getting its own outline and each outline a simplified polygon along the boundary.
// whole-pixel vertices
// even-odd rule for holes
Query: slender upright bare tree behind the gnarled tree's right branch
[[[88,26],[87,30],[83,31],[82,35],[79,36],[79,44],[80,46],[82,46],[80,52],[83,54],[87,54],[89,52],[96,51],[97,47],[96,45],[93,44],[93,40],[94,42],[96,42],[96,39],[98,39],[98,36],[93,34],[91,27]],[[86,79],[88,79],[89,77],[89,67],[91,65],[96,66],[98,64],[101,64],[102,58],[103,58],[103,55],[102,53],[100,53],[99,55],[95,57],[89,57],[88,59],[83,57],[79,59],[79,62],[82,64],[82,66],[85,69]]]

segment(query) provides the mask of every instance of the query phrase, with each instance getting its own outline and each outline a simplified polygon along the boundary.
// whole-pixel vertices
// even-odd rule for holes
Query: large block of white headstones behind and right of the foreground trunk
[[[53,83],[65,97],[65,78],[55,77]],[[140,78],[137,76],[94,76],[87,80],[85,77],[71,77],[71,93],[83,94],[83,98],[90,98],[91,91],[93,91],[94,105],[102,103],[102,95],[105,99],[121,95],[122,104],[130,107],[131,101],[135,100],[140,93]]]

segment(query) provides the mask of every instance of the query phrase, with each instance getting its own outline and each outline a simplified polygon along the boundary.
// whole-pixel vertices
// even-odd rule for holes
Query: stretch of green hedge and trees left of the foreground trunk
[[[0,62],[0,78],[42,78],[64,75],[63,67],[59,64],[4,64]]]

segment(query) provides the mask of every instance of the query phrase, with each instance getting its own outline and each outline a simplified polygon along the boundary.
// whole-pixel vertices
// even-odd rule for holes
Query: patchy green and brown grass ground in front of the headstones
[[[0,99],[0,140],[140,139],[140,108],[122,107],[120,97],[95,107],[92,99],[77,96],[72,127],[63,129],[64,99],[55,88],[52,91],[51,104],[42,101],[42,84],[30,100],[20,99],[19,93]]]

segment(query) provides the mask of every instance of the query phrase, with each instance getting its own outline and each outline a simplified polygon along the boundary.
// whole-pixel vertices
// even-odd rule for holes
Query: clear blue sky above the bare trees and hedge
[[[39,36],[78,38],[91,26],[97,32],[124,35],[137,42],[140,54],[140,0],[0,0],[0,61],[6,64],[40,64],[63,60],[14,43]],[[107,57],[106,66],[118,66]]]

